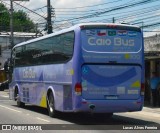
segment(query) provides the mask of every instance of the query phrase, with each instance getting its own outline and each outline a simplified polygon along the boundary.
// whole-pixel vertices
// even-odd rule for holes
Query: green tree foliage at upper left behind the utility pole
[[[14,32],[34,32],[36,27],[22,10],[13,12],[13,26]],[[0,31],[10,31],[10,13],[2,3],[0,3]]]

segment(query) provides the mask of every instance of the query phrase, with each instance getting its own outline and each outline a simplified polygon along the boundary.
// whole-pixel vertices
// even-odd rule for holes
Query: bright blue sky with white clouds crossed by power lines
[[[2,0],[8,1],[8,0]],[[20,1],[20,0],[19,0]],[[82,22],[113,22],[129,23],[143,28],[144,35],[159,34],[160,31],[160,0],[50,0],[54,15],[52,24],[54,31]],[[14,3],[15,10],[24,10],[29,17],[45,27],[47,17],[47,0],[29,0]],[[9,2],[7,2],[9,6]],[[151,26],[150,26],[151,25]],[[149,27],[148,27],[149,26]]]

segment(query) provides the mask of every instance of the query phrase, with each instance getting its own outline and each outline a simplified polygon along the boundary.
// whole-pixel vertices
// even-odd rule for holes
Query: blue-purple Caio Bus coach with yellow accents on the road
[[[144,45],[139,27],[82,23],[12,49],[9,97],[59,112],[140,111]]]

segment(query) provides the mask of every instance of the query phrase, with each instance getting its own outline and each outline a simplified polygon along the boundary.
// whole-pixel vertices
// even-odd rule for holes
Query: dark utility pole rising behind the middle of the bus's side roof
[[[47,33],[53,33],[52,23],[51,23],[51,3],[50,0],[47,0]]]

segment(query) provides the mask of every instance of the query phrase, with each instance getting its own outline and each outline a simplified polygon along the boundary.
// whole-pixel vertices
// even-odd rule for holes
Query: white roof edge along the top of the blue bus
[[[43,40],[43,39],[46,39],[46,38],[49,38],[49,37],[52,37],[52,36],[56,36],[56,35],[59,35],[59,34],[62,34],[62,33],[65,33],[65,32],[69,32],[69,31],[72,31],[72,30],[75,30],[76,28],[80,28],[80,27],[88,27],[88,26],[111,26],[111,27],[114,27],[114,26],[126,26],[126,27],[132,27],[132,28],[139,28],[138,26],[133,26],[133,25],[128,25],[128,24],[116,24],[116,23],[80,23],[80,24],[77,24],[77,25],[74,25],[70,28],[66,28],[66,29],[63,29],[63,30],[60,30],[60,31],[57,31],[55,33],[51,33],[51,34],[48,34],[48,35],[45,35],[45,36],[42,36],[42,37],[38,37],[38,38],[35,38],[35,39],[32,39],[32,40],[28,40],[26,42],[22,42],[22,43],[19,43],[19,44],[16,44],[13,48],[15,47],[19,47],[21,45],[25,45],[25,44],[29,44],[29,43],[32,43],[32,42],[36,42],[36,41],[39,41],[39,40]]]

